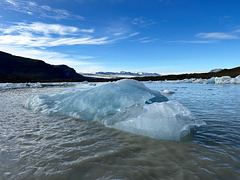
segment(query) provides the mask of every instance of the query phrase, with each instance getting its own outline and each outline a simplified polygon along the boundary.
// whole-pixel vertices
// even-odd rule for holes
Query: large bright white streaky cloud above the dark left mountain
[[[2,33],[1,33],[2,32]],[[94,29],[45,23],[18,23],[0,29],[0,44],[28,47],[54,47],[63,45],[101,45],[110,43],[108,37],[90,36]],[[80,36],[80,37],[79,37]]]

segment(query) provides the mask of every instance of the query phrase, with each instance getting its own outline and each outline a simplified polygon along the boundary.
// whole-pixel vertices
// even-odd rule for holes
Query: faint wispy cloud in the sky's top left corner
[[[69,18],[84,19],[84,17],[74,15],[67,10],[52,8],[28,0],[2,0],[0,6],[17,12],[36,15],[36,17],[39,18],[51,18],[57,20]]]

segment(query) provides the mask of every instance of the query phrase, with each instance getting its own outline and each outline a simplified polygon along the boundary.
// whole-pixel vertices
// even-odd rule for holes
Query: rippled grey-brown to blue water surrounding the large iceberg
[[[145,85],[174,91],[207,125],[181,142],[154,140],[24,108],[32,94],[83,85],[1,90],[0,179],[239,179],[240,85]]]

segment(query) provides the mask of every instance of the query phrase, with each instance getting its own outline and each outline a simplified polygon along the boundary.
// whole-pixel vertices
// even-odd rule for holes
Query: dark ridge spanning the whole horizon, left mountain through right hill
[[[211,77],[240,75],[240,66],[222,69],[217,72],[192,73],[178,75],[132,77],[139,81],[182,80],[191,78],[209,79]],[[82,76],[67,65],[50,65],[42,60],[14,56],[0,51],[0,82],[79,82],[79,81],[116,81],[123,78],[89,78]]]

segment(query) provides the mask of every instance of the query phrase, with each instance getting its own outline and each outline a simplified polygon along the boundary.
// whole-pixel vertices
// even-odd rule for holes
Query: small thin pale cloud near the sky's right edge
[[[220,32],[213,32],[213,33],[198,33],[196,34],[197,37],[200,38],[210,38],[210,39],[239,39],[238,36],[228,34],[228,33],[220,33]]]

